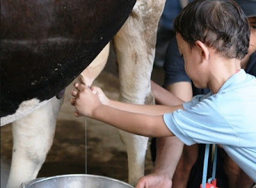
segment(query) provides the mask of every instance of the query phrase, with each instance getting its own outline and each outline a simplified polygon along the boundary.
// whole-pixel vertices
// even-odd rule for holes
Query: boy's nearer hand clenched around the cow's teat
[[[74,83],[74,87],[76,87],[77,90],[71,91],[74,98],[70,100],[71,105],[76,107],[74,115],[76,117],[81,115],[92,117],[94,110],[102,105],[97,96],[97,92],[94,94],[89,87],[81,83]],[[99,92],[99,90],[97,91]]]

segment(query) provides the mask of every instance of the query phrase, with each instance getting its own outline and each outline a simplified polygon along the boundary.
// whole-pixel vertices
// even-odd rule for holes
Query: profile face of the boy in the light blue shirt
[[[179,33],[176,34],[177,43],[180,55],[184,59],[184,68],[191,80],[193,81],[195,87],[206,88],[206,70],[202,67],[200,63],[202,61],[202,56],[200,55],[200,50],[197,47],[190,48],[188,43],[183,40]]]

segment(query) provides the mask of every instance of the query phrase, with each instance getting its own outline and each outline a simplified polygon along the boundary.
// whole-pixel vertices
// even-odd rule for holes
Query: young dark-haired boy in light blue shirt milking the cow
[[[246,16],[231,0],[195,0],[173,25],[186,73],[209,94],[178,106],[132,105],[75,83],[75,115],[143,136],[177,136],[186,145],[218,143],[256,182],[256,78],[241,69],[250,38]],[[173,155],[180,157],[180,151]],[[136,187],[157,187],[156,180],[141,179]]]

